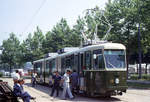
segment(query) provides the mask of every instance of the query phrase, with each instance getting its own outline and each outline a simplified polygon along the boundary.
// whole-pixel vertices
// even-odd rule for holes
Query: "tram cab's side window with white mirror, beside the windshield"
[[[102,50],[94,50],[93,51],[93,57],[94,58],[94,69],[104,68],[104,59],[102,55]]]

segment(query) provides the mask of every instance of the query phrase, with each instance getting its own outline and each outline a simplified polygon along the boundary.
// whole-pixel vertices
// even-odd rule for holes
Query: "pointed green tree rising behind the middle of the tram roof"
[[[70,45],[71,30],[65,19],[61,19],[56,26],[53,27],[51,32],[46,34],[45,44],[49,44],[49,49],[52,52],[57,52],[58,49],[64,48]]]

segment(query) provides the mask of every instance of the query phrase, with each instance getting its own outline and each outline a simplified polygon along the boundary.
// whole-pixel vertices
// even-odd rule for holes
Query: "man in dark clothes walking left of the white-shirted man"
[[[52,92],[51,92],[51,96],[53,96],[55,90],[57,91],[56,96],[58,97],[59,95],[59,87],[60,87],[60,81],[61,81],[61,76],[59,75],[58,71],[55,72],[55,75],[53,75],[52,77],[53,79],[53,87],[52,87]]]

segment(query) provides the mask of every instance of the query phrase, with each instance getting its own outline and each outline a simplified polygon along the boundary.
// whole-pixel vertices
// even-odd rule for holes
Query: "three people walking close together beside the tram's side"
[[[78,86],[78,74],[76,70],[73,70],[73,73],[71,73],[70,70],[66,70],[66,73],[63,76],[60,76],[58,71],[54,72],[54,75],[52,77],[53,79],[53,87],[51,91],[51,96],[53,96],[55,90],[56,90],[56,96],[59,96],[59,89],[60,84],[63,84],[63,92],[62,92],[62,99],[66,99],[66,96],[68,95],[70,99],[75,98],[75,90]]]

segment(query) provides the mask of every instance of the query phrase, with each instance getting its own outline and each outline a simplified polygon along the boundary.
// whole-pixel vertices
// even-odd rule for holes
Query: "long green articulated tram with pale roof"
[[[50,84],[53,71],[67,68],[79,74],[78,92],[88,96],[122,95],[127,90],[126,48],[119,43],[101,43],[34,61],[38,83]]]

